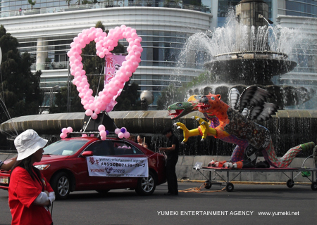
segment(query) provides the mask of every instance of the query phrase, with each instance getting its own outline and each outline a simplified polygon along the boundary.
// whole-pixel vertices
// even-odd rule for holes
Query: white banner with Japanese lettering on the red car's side
[[[87,157],[89,176],[149,176],[147,158]]]

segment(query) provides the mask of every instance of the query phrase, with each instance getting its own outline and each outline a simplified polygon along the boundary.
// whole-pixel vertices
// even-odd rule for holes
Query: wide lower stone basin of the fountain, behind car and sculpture
[[[172,127],[175,122],[182,122],[189,129],[197,128],[197,121],[192,116],[203,117],[198,111],[189,113],[178,120],[171,120],[166,110],[164,111],[121,111],[110,112],[110,117],[117,127],[125,127],[131,134],[144,134],[149,139],[151,150],[166,142],[161,134],[166,127]],[[20,134],[26,129],[35,129],[38,134],[48,140],[60,139],[63,127],[73,127],[74,131],[80,131],[84,122],[85,113],[56,113],[48,115],[27,115],[15,117],[0,125],[2,134],[8,136],[11,142],[14,140],[15,130]],[[271,132],[275,152],[282,156],[285,152],[309,141],[317,139],[317,110],[278,110],[271,120],[259,122]],[[175,134],[182,141],[182,131],[176,130]],[[156,140],[161,142],[156,144]],[[12,143],[13,144],[13,143]],[[14,148],[14,147],[13,147]],[[190,138],[185,145],[181,145],[180,155],[230,155],[232,146],[218,139],[207,137],[206,141],[200,141],[200,137]],[[308,154],[308,153],[307,153]],[[311,153],[309,153],[311,154]],[[308,156],[308,155],[307,155]],[[302,157],[302,156],[301,156]]]

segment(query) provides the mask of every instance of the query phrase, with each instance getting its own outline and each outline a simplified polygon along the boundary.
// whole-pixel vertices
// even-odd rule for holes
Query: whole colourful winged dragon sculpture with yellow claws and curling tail
[[[231,165],[232,162],[237,162],[237,167],[254,166],[254,163],[250,165],[250,162],[255,162],[254,158],[241,161],[244,159],[247,148],[255,148],[255,153],[262,151],[263,157],[269,165],[287,167],[303,148],[313,148],[315,144],[311,142],[296,146],[288,150],[282,158],[277,158],[268,129],[252,121],[268,120],[271,115],[277,112],[277,105],[265,102],[266,98],[270,97],[271,94],[268,91],[257,86],[250,86],[242,92],[239,101],[234,98],[236,101],[231,102],[233,108],[221,101],[220,95],[209,94],[207,96],[191,96],[185,103],[170,105],[168,110],[176,111],[170,113],[173,120],[194,110],[199,110],[209,120],[207,123],[199,117],[194,117],[195,120],[199,121],[200,126],[192,130],[188,130],[185,124],[177,122],[176,125],[184,133],[182,143],[185,143],[190,136],[201,135],[202,140],[204,140],[206,136],[212,135],[217,139],[237,145],[230,158]],[[246,108],[249,108],[247,110],[249,113],[242,115]]]

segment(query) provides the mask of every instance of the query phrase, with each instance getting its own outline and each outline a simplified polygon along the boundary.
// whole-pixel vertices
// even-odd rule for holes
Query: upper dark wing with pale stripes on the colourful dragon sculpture
[[[242,92],[239,100],[239,112],[242,113],[244,108],[252,108],[257,105],[263,105],[266,98],[271,98],[273,95],[259,88],[258,86],[248,86]]]

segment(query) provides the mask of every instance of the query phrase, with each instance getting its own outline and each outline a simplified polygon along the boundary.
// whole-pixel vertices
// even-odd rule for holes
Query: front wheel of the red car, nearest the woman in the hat
[[[56,199],[66,199],[70,193],[70,179],[66,172],[60,172],[51,179],[51,187],[53,188]]]

